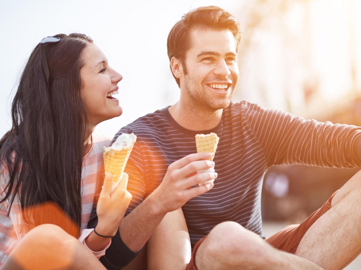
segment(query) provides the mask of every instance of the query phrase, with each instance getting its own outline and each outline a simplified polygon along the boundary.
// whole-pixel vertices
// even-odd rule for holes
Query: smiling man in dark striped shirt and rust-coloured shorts
[[[152,267],[185,268],[187,253],[176,255],[187,246],[179,233],[186,230],[184,213],[193,249],[187,269],[344,267],[361,251],[361,174],[301,225],[265,240],[262,177],[267,168],[281,164],[361,166],[361,129],[304,120],[245,100],[231,103],[239,77],[239,41],[238,19],[215,6],[190,11],[170,31],[168,55],[181,89],[179,101],[123,127],[114,138],[123,132],[138,136],[126,167],[133,200],[119,228],[122,244],[136,252],[151,238],[148,245],[156,243],[168,252],[150,251],[164,262],[152,262]],[[220,138],[214,187],[187,202],[179,200],[184,191],[177,181],[169,185],[168,173],[178,169],[175,163],[169,165],[196,152],[195,134],[210,132]],[[173,241],[179,249],[173,252],[175,246],[160,239]]]

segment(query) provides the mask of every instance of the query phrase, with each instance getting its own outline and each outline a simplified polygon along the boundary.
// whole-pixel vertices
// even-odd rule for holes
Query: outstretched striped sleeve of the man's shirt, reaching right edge
[[[243,109],[249,128],[264,148],[268,166],[361,166],[361,127],[305,120],[251,103],[245,103]]]

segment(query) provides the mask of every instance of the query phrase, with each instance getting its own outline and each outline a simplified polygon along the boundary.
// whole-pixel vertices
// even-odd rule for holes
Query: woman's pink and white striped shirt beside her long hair
[[[81,230],[87,228],[88,221],[93,208],[94,196],[97,186],[100,185],[104,173],[103,166],[103,146],[108,146],[110,139],[93,132],[92,147],[84,156],[82,166],[82,225]],[[8,180],[8,174],[0,174],[0,183],[4,189]],[[9,253],[25,234],[26,228],[21,215],[19,198],[16,197],[8,216],[8,200],[0,204],[0,266],[4,264]]]

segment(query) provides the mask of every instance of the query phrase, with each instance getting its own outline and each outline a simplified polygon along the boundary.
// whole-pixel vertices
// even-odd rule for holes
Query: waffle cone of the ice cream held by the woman
[[[113,174],[113,181],[117,182],[122,175],[130,153],[132,152],[135,140],[130,147],[114,150],[111,147],[104,147],[103,160],[104,170]]]

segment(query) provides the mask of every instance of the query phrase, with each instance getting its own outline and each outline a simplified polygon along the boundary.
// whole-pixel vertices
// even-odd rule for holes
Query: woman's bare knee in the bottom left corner
[[[78,239],[56,225],[44,224],[25,235],[1,269],[105,269]]]

